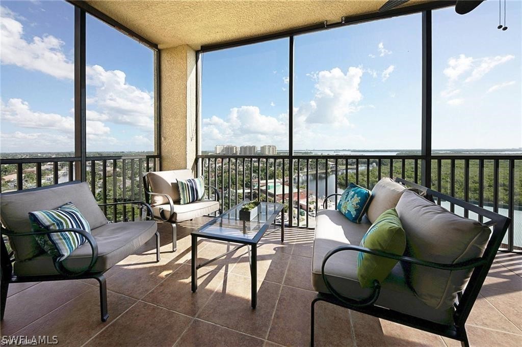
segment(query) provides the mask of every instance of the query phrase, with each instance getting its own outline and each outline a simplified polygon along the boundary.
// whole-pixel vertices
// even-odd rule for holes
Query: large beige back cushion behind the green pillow
[[[482,256],[491,235],[487,226],[459,217],[413,191],[397,204],[406,232],[406,256],[455,264]],[[446,309],[464,290],[472,270],[446,271],[402,263],[411,288],[426,305]]]

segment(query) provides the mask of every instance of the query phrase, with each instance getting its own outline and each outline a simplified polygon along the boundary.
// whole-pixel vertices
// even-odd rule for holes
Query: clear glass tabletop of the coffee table
[[[250,201],[243,201],[235,205],[192,234],[217,240],[257,243],[268,226],[281,213],[283,204],[261,202],[252,220],[243,221],[240,219],[240,210],[248,202]]]

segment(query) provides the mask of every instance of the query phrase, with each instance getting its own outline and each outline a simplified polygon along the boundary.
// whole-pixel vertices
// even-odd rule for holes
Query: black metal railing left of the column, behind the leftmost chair
[[[5,158],[0,161],[2,192],[74,181],[79,157]],[[100,204],[144,200],[145,172],[159,168],[158,155],[87,157],[87,182]],[[134,220],[134,206],[104,206],[110,220]]]

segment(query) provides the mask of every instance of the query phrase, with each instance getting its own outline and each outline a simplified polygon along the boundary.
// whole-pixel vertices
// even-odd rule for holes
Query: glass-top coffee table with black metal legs
[[[283,204],[261,202],[258,206],[259,212],[251,221],[242,221],[239,219],[241,207],[249,201],[243,201],[235,205],[223,214],[212,218],[203,227],[191,233],[192,237],[192,291],[197,290],[197,270],[217,259],[235,252],[241,247],[247,247],[250,253],[250,275],[252,286],[252,307],[256,308],[257,303],[257,244],[263,236],[274,231],[266,232],[268,227],[276,220],[276,217],[282,213]],[[284,241],[284,218],[281,216],[281,242]],[[276,229],[277,230],[277,229]],[[232,243],[238,243],[227,253],[220,254],[208,261],[197,264],[197,240],[198,238],[220,240]]]

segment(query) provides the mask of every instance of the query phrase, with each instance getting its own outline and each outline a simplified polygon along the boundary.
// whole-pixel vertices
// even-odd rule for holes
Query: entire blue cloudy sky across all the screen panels
[[[522,147],[521,7],[433,12],[433,147]],[[73,151],[74,8],[2,2],[2,152]],[[203,56],[201,141],[288,148],[288,39]],[[421,15],[295,36],[294,148],[419,149]],[[153,54],[87,16],[88,151],[153,150]],[[496,135],[496,136],[494,136]]]

